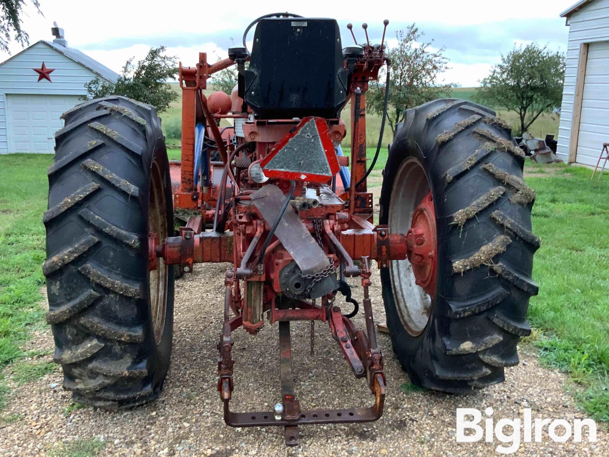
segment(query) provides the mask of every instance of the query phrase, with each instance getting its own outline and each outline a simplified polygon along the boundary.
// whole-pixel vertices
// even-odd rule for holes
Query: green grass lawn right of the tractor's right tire
[[[541,358],[569,372],[572,389],[594,419],[609,421],[609,179],[564,164],[527,162],[537,192],[533,232],[541,248],[533,263],[540,286],[529,319],[545,333]],[[535,177],[536,172],[550,171]]]

